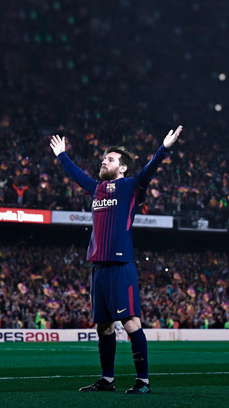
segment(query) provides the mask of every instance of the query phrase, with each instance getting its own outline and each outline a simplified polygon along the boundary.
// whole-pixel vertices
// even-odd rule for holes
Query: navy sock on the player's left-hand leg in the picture
[[[98,351],[102,367],[102,377],[114,376],[114,359],[116,353],[116,332],[98,336]]]

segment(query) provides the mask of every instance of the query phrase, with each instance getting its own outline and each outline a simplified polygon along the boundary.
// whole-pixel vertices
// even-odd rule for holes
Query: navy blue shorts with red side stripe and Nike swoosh
[[[133,262],[97,262],[91,270],[93,323],[141,317],[137,271]]]

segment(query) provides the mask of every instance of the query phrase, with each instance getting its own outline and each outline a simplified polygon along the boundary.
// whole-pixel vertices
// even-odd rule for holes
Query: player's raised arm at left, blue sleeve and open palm
[[[72,177],[72,179],[79,184],[85,193],[89,193],[93,197],[98,181],[89,177],[80,167],[76,166],[65,153],[65,140],[64,137],[61,138],[57,136],[52,136],[50,146],[54,151],[55,155],[61,162],[63,169]]]

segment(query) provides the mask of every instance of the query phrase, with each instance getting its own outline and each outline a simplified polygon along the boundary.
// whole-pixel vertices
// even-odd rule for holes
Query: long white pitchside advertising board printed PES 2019
[[[144,329],[148,341],[229,341],[227,329]],[[128,340],[123,329],[116,330],[117,340]],[[98,341],[95,329],[46,330],[46,329],[0,329],[0,343],[5,341],[58,342]]]

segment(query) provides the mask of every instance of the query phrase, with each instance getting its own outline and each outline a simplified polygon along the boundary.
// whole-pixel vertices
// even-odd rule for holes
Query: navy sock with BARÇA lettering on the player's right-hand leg
[[[131,340],[131,350],[137,378],[148,378],[147,341],[144,331],[135,330],[128,334]]]

